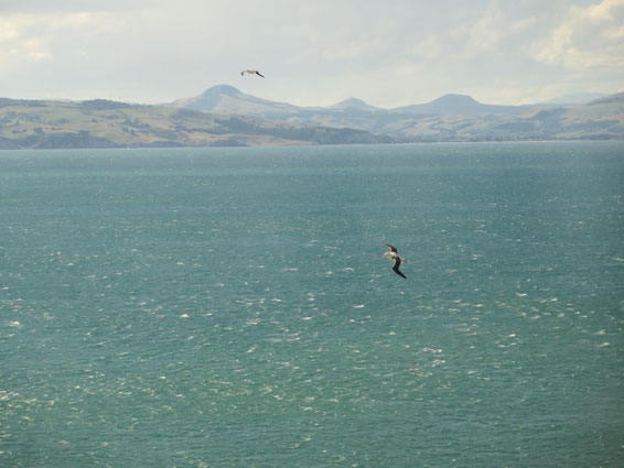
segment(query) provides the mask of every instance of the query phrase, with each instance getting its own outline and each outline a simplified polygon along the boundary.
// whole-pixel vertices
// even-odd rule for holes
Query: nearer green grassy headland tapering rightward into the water
[[[0,98],[0,149],[245,146],[389,143],[354,129],[269,122],[192,109],[94,99],[83,102]]]

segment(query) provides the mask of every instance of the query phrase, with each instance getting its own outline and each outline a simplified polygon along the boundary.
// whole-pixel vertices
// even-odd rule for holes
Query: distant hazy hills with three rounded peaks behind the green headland
[[[356,98],[331,107],[298,107],[218,85],[198,96],[166,106],[309,126],[352,128],[402,141],[624,139],[624,94],[584,96],[600,98],[583,105],[497,106],[478,102],[470,96],[450,94],[431,102],[394,109],[369,106]],[[607,104],[604,99],[611,101]]]

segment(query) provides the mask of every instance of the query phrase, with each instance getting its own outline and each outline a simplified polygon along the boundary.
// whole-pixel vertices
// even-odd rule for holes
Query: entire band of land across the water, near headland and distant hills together
[[[0,149],[624,140],[624,92],[582,105],[495,106],[445,95],[395,109],[298,107],[228,85],[168,105],[0,98]]]

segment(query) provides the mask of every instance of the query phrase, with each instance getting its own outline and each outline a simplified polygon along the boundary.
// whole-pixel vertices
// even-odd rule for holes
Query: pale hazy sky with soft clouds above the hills
[[[163,104],[220,84],[383,108],[620,92],[624,0],[0,0],[0,97]]]

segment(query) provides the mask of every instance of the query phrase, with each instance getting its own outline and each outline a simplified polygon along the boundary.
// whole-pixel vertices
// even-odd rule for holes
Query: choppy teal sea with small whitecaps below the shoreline
[[[0,466],[622,467],[623,286],[623,142],[3,151]]]

